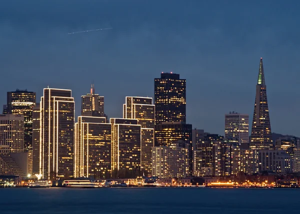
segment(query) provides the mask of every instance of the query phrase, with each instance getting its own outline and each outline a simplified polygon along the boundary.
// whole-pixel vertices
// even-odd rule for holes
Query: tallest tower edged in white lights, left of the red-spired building
[[[42,178],[73,176],[74,98],[71,90],[44,88],[40,100]]]

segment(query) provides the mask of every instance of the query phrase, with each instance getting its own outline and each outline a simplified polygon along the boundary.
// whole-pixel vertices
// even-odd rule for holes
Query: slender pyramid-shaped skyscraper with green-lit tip
[[[264,81],[262,58],[260,58],[250,148],[267,149],[272,147],[273,143],[266,98],[266,85]]]

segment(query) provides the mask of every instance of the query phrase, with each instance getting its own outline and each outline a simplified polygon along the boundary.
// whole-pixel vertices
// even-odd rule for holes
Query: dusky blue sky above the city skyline
[[[121,117],[125,96],[153,97],[172,71],[186,79],[187,123],[223,135],[229,111],[251,125],[262,57],[271,129],[300,136],[299,11],[297,0],[3,0],[0,104],[49,85],[72,89],[77,116],[94,81]]]

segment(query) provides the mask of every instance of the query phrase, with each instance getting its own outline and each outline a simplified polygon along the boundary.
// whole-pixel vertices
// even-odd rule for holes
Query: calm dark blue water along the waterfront
[[[6,213],[299,213],[300,189],[0,188]]]

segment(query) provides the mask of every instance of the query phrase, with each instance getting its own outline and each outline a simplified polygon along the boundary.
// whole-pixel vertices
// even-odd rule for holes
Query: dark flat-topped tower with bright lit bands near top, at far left
[[[28,172],[32,173],[32,109],[35,106],[35,92],[27,90],[7,92],[7,113],[24,115],[24,151],[28,152]]]

